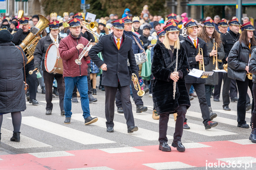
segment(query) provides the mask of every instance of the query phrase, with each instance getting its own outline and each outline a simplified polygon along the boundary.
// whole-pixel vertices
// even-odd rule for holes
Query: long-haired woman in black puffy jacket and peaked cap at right
[[[249,128],[249,125],[245,121],[246,96],[249,87],[252,93],[252,108],[254,108],[253,82],[252,79],[249,79],[248,74],[250,74],[249,61],[251,52],[256,48],[256,41],[253,36],[255,29],[251,21],[241,25],[240,29],[242,33],[239,40],[231,48],[228,55],[228,77],[236,80],[239,94],[237,101],[237,127]]]

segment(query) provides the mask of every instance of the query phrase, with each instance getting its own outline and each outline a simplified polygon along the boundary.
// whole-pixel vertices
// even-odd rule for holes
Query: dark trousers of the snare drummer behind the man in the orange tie
[[[129,71],[129,76],[131,77],[132,76],[132,73]],[[139,78],[139,77],[138,77]],[[134,85],[133,85],[133,81],[130,80],[131,82],[131,89],[132,89],[132,93],[133,93],[133,98],[134,98],[134,103],[137,105],[139,104],[142,104],[143,105],[143,101],[142,101],[142,96],[138,96],[138,91],[135,90],[134,88]],[[120,91],[117,90],[117,95],[116,95],[116,106],[117,107],[123,107],[122,106],[122,98],[121,98],[121,95],[120,95]]]

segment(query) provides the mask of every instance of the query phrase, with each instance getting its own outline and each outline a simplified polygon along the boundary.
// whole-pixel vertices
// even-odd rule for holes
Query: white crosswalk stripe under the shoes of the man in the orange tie
[[[92,117],[94,117],[94,116],[92,116]],[[78,121],[81,121],[81,122],[84,121],[81,117],[81,114],[72,114],[72,119],[78,120]],[[139,137],[139,138],[146,139],[146,140],[158,140],[158,137],[159,137],[158,132],[143,129],[143,128],[140,128],[140,127],[139,127],[139,130],[136,131],[136,132],[127,133],[127,125],[126,124],[116,122],[116,121],[114,121],[114,124],[115,124],[114,131],[121,132],[121,133],[128,134],[128,135],[132,135],[134,137]],[[106,129],[106,119],[98,117],[98,121],[93,123],[93,125],[103,127],[103,128]],[[168,139],[173,139],[173,136],[167,135],[167,138]]]

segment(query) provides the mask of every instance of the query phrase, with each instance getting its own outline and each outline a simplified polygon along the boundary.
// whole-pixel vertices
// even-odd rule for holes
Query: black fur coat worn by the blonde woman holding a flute
[[[177,49],[174,49],[173,60],[176,60],[176,52]],[[177,113],[177,108],[182,105],[186,106],[187,109],[190,107],[190,99],[184,80],[189,69],[189,64],[182,44],[180,45],[178,53],[177,70],[182,72],[183,78],[180,78],[177,82],[174,100],[173,80],[170,79],[170,75],[174,72],[176,64],[173,64],[170,68],[166,69],[172,62],[168,50],[163,43],[156,44],[154,48],[151,72],[155,79],[152,83],[152,96],[158,114],[167,112],[170,112],[170,114]]]

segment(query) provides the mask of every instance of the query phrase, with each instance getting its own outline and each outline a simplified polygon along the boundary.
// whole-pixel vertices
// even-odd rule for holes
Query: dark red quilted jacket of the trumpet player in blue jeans
[[[60,41],[59,52],[63,63],[63,77],[77,77],[87,75],[87,60],[90,60],[90,57],[83,57],[81,65],[76,64],[75,59],[79,58],[79,54],[82,53],[82,48],[77,50],[77,44],[83,44],[86,46],[88,40],[79,35],[78,38],[69,34]]]

